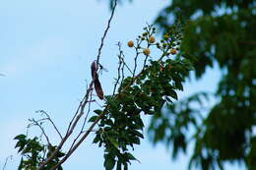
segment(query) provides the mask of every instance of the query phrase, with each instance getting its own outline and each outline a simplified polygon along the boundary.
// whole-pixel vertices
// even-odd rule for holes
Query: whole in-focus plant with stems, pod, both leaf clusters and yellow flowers
[[[125,62],[125,55],[118,43],[117,78],[115,80],[112,94],[104,95],[97,74],[97,67],[102,69],[102,65],[96,61],[92,63],[93,81],[87,89],[78,112],[70,122],[68,131],[62,136],[55,124],[44,111],[39,111],[46,118],[40,120],[32,119],[32,125],[39,127],[42,132],[39,140],[37,137],[30,139],[26,135],[19,135],[16,147],[22,153],[20,169],[62,169],[60,166],[73,151],[83,142],[87,136],[93,132],[97,125],[98,129],[94,143],[104,147],[104,167],[111,170],[128,169],[131,160],[137,160],[130,152],[135,144],[140,144],[144,138],[143,115],[160,116],[162,106],[169,105],[177,100],[176,90],[183,90],[182,83],[189,71],[193,69],[194,59],[184,57],[179,51],[182,39],[182,25],[175,24],[169,27],[163,34],[162,39],[157,42],[156,28],[147,26],[144,32],[136,38],[136,42],[130,40],[127,45],[134,49],[134,66],[130,67]],[[159,50],[152,55],[152,50]],[[143,63],[139,66],[139,63]],[[98,65],[97,65],[98,64]],[[128,74],[127,74],[128,73]],[[87,122],[92,123],[88,131],[84,131],[91,103],[96,101],[92,95],[93,85],[99,99],[104,99],[104,105],[96,109]],[[91,97],[90,97],[91,96]],[[90,99],[90,101],[89,101]],[[61,151],[64,142],[69,139],[77,122],[84,115],[85,105],[89,102],[88,114],[85,117],[82,130],[75,138],[67,151]],[[52,144],[45,133],[42,123],[50,121],[60,136],[59,144]],[[81,137],[82,136],[82,137]]]

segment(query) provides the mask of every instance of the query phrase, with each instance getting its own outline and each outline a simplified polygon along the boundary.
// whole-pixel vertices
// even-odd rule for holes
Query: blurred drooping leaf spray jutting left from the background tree
[[[198,92],[183,98],[174,104],[167,103],[160,114],[154,115],[149,127],[149,137],[152,142],[162,141],[169,147],[172,144],[172,157],[176,158],[178,151],[186,152],[187,142],[192,138],[192,127],[200,128],[203,103],[210,96]],[[158,120],[156,123],[155,120]],[[158,132],[158,133],[156,133]],[[188,136],[188,134],[191,134]]]

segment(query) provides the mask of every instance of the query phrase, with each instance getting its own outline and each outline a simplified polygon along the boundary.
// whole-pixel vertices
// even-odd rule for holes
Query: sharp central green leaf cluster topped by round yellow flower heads
[[[145,55],[145,65],[137,76],[133,74],[122,79],[118,92],[105,96],[105,109],[96,110],[96,115],[90,119],[94,122],[98,115],[102,115],[94,142],[105,147],[106,170],[113,169],[115,165],[117,170],[122,166],[127,169],[130,160],[137,160],[129,152],[129,147],[134,149],[134,144],[140,144],[140,139],[144,138],[142,115],[160,115],[164,103],[170,104],[177,99],[175,90],[183,89],[184,75],[192,70],[192,63],[180,56],[170,59],[171,50],[177,50],[181,40],[178,28],[178,25],[170,27],[162,40],[155,43],[153,35],[156,28],[148,26],[138,36],[137,45],[134,46],[131,41],[128,43],[128,46],[135,48],[137,55]],[[142,47],[144,41],[147,44],[145,48]],[[157,60],[151,56],[147,62],[150,46],[157,46],[161,55]],[[145,52],[145,49],[148,51]]]

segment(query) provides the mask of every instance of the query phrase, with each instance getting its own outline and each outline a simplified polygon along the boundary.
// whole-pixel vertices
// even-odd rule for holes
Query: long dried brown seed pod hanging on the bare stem
[[[91,65],[91,74],[92,74],[92,78],[94,80],[96,95],[98,96],[99,99],[103,99],[103,95],[104,95],[103,90],[102,90],[102,87],[101,87],[100,82],[98,80],[97,73],[96,73],[96,61],[94,61]]]

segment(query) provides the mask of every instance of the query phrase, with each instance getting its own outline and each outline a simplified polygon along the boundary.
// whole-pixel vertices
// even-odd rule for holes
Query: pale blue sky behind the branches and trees
[[[108,70],[100,76],[105,93],[111,92],[116,75],[118,50],[115,44],[118,41],[124,44],[128,62],[132,62],[132,52],[125,46],[126,42],[135,39],[146,23],[153,23],[167,3],[168,0],[135,0],[117,7],[100,59]],[[0,1],[0,73],[4,74],[0,77],[0,168],[6,157],[13,155],[6,170],[17,169],[20,156],[14,149],[13,138],[26,133],[28,119],[39,117],[36,110],[47,111],[65,132],[91,81],[90,65],[96,59],[109,15],[108,4],[102,0]],[[185,90],[179,95],[215,91],[219,79],[216,66],[208,70],[199,83],[192,80],[185,84]],[[144,119],[147,125],[149,117]],[[30,130],[31,136],[37,133]],[[56,134],[50,137],[53,142],[58,141]],[[103,150],[93,144],[92,139],[93,136],[63,164],[65,170],[103,169]],[[133,162],[131,170],[185,170],[188,162],[188,156],[171,161],[170,151],[160,144],[153,146],[147,137],[135,147],[134,155],[141,163]],[[229,165],[226,167],[228,169]]]

